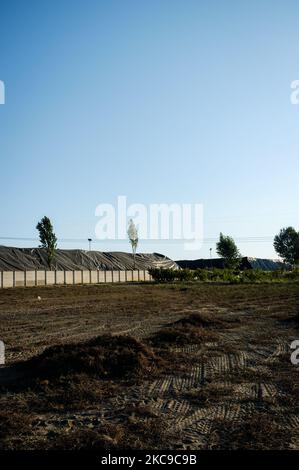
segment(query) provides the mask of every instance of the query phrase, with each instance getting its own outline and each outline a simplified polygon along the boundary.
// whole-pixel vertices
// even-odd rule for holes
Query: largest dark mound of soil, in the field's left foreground
[[[98,336],[85,343],[50,347],[24,364],[32,378],[92,374],[98,378],[127,378],[148,373],[155,365],[153,351],[129,336]]]

